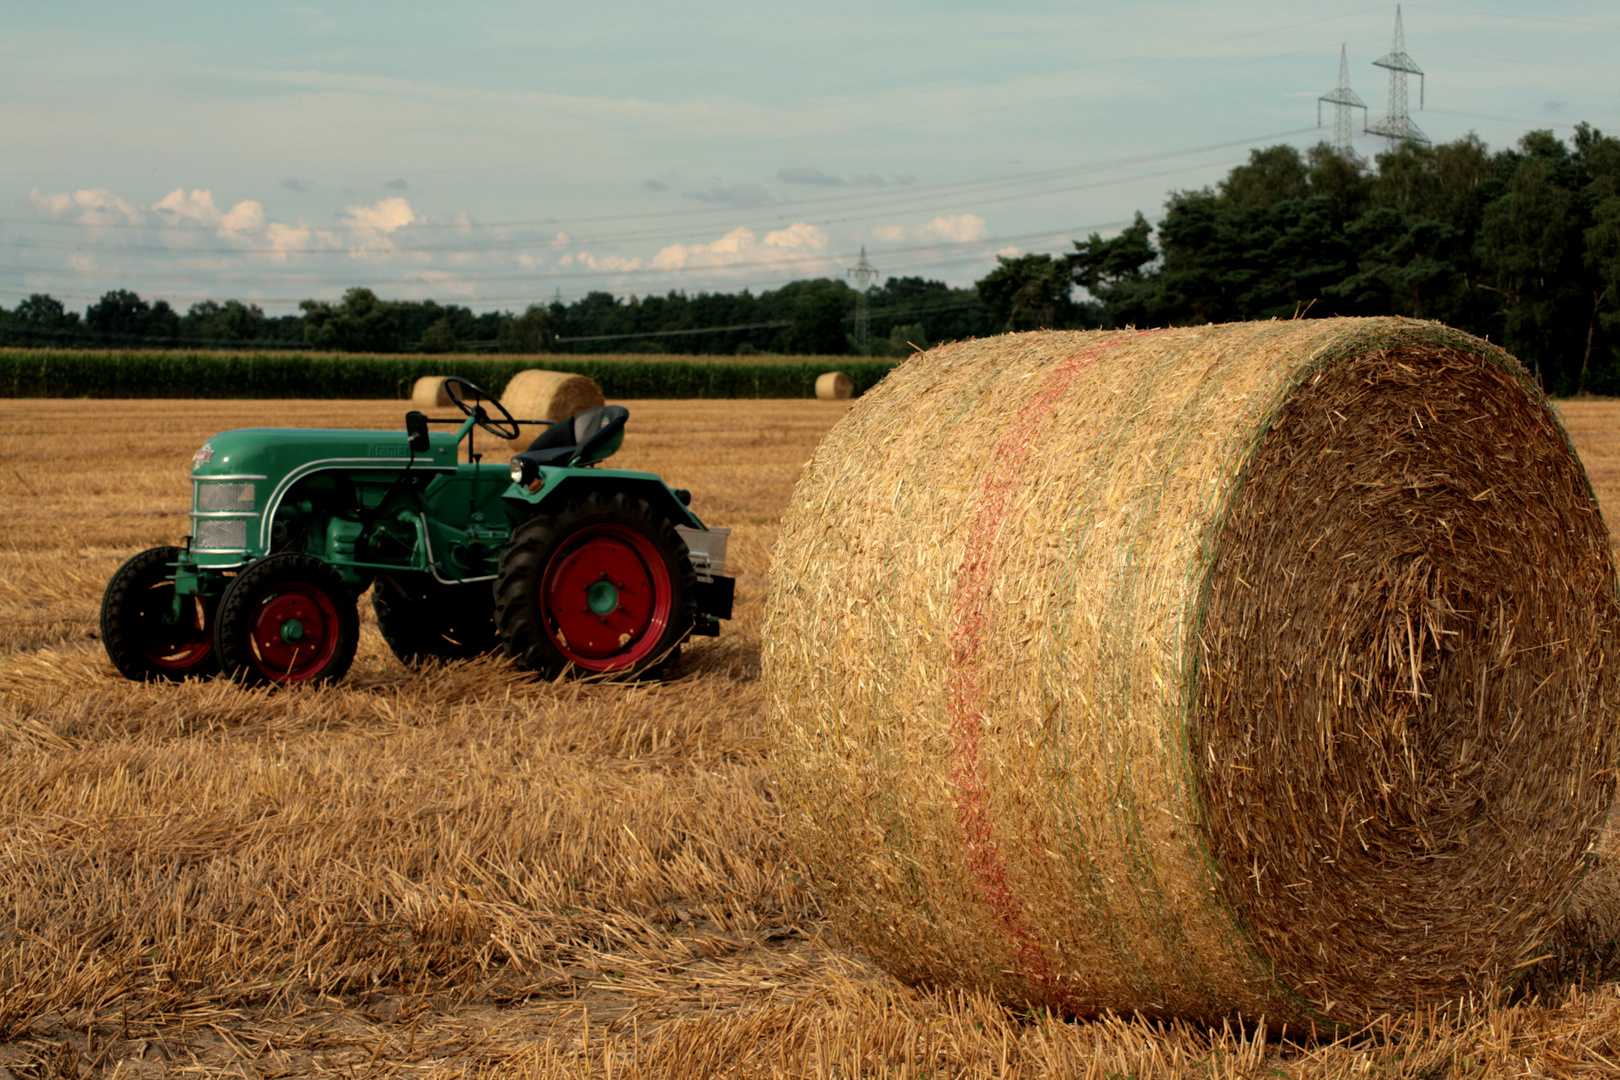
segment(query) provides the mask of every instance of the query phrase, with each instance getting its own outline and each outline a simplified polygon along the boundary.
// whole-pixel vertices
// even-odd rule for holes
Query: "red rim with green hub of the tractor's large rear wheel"
[[[541,576],[546,633],[588,672],[616,672],[650,656],[672,604],[658,546],[622,525],[590,525],[552,554]]]

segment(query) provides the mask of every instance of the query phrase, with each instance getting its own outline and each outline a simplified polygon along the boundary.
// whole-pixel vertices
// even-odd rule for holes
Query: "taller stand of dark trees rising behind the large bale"
[[[1406,142],[1372,170],[1325,144],[1252,151],[1157,227],[1137,214],[1048,259],[1016,275],[1014,324],[1396,314],[1503,345],[1550,393],[1620,393],[1620,139],[1588,125],[1498,152]],[[1064,306],[1069,283],[1090,300]]]

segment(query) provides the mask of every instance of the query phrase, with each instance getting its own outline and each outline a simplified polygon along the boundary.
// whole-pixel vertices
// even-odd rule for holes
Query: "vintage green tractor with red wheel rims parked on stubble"
[[[191,460],[191,536],[152,547],[102,597],[107,656],[128,678],[225,672],[248,683],[342,678],[369,586],[407,664],[504,648],[557,675],[650,677],[690,635],[731,619],[731,529],[651,473],[599,468],[629,411],[546,426],[510,465],[473,432],[517,439],[489,393],[447,379],[463,416],[405,415],[405,431],[248,427]],[[429,424],[452,424],[434,432]],[[467,440],[467,461],[460,445]]]

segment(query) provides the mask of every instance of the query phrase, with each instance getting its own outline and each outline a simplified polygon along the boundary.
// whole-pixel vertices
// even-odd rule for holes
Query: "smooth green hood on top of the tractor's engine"
[[[455,436],[433,432],[416,468],[455,468]],[[194,479],[253,476],[279,479],[308,466],[403,465],[411,457],[403,431],[322,427],[240,427],[222,431],[191,457]]]

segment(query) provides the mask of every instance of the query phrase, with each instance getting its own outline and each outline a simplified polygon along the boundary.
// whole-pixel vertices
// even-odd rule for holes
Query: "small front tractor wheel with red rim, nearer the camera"
[[[219,601],[214,649],[225,672],[249,685],[335,682],[358,644],[355,591],[313,555],[249,563]]]

